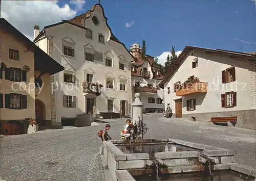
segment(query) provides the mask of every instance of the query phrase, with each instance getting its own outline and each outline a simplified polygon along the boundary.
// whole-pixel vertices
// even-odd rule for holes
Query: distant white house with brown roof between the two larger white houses
[[[142,60],[142,48],[138,43],[130,46],[130,52],[135,57],[131,65],[132,73],[132,95],[140,93],[143,102],[143,112],[164,111],[163,90],[158,88],[158,84],[163,79],[159,70],[154,67],[154,57],[147,55]],[[135,98],[133,97],[133,100]]]

